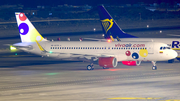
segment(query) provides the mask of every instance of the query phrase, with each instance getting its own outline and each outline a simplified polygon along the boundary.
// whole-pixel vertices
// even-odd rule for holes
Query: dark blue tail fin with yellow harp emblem
[[[104,6],[98,6],[98,12],[101,20],[101,26],[103,32],[105,33],[105,38],[110,38],[110,36],[113,38],[137,38],[136,36],[126,34],[122,31]]]

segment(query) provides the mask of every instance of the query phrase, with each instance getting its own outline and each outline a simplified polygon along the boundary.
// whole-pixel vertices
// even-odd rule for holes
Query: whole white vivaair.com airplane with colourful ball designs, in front
[[[49,41],[42,37],[24,13],[15,13],[21,42],[12,46],[28,53],[64,60],[89,61],[87,70],[93,70],[93,63],[100,67],[114,68],[119,61],[156,61],[177,57],[177,52],[167,44],[159,42],[97,42],[97,41]],[[125,65],[134,65],[124,62]]]

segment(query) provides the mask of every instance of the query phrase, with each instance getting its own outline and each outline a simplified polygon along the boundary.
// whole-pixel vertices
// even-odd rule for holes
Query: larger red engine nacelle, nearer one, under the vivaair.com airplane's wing
[[[118,62],[115,57],[100,57],[98,63],[101,67],[114,68],[117,66]]]

